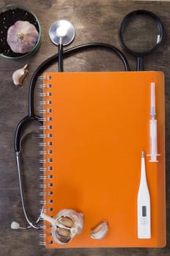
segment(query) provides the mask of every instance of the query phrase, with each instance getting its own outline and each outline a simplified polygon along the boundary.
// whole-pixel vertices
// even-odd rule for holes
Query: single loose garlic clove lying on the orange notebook
[[[93,239],[104,238],[108,233],[108,223],[107,221],[100,222],[96,227],[90,232],[90,237]]]

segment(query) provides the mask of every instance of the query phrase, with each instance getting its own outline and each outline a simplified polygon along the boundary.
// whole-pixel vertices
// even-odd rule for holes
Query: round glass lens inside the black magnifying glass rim
[[[123,42],[134,53],[149,52],[161,40],[155,19],[144,13],[131,15],[122,29]]]

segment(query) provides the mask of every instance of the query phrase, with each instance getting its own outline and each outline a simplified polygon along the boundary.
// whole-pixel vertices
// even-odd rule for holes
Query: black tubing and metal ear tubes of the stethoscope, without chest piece
[[[26,221],[28,222],[28,227],[26,227],[24,229],[27,229],[27,228],[30,228],[30,227],[34,227],[35,229],[40,229],[41,228],[41,226],[38,225],[38,222],[41,218],[41,215],[39,215],[39,217],[38,217],[38,219],[36,220],[35,223],[31,222],[31,220],[28,218],[28,214],[26,212],[26,208],[25,208],[25,204],[24,204],[24,200],[23,200],[23,188],[22,188],[22,182],[21,182],[21,178],[20,178],[20,151],[21,151],[21,148],[20,148],[20,142],[21,142],[20,134],[21,134],[21,131],[22,131],[23,127],[26,124],[28,124],[28,122],[38,121],[40,124],[42,124],[42,122],[43,122],[42,118],[40,118],[39,116],[36,116],[35,113],[34,113],[34,89],[35,89],[35,86],[36,86],[36,80],[42,74],[42,72],[45,71],[45,69],[47,67],[49,67],[51,64],[53,64],[54,61],[58,60],[58,72],[63,72],[63,57],[69,56],[72,53],[77,53],[80,50],[85,50],[85,49],[88,49],[88,48],[95,48],[95,47],[107,48],[109,50],[112,50],[123,61],[125,71],[130,70],[129,65],[128,65],[128,61],[120,50],[118,50],[114,46],[106,44],[106,43],[94,42],[94,43],[88,43],[88,44],[85,44],[85,45],[78,45],[74,48],[70,48],[70,49],[67,49],[67,50],[64,50],[64,51],[63,51],[63,45],[58,45],[58,53],[53,55],[49,59],[45,60],[44,62],[42,62],[42,64],[40,64],[39,67],[36,68],[34,74],[31,77],[29,92],[28,92],[28,116],[25,116],[23,119],[20,120],[20,122],[18,123],[18,126],[15,130],[15,153],[16,153],[16,160],[17,160],[17,165],[18,165],[20,197],[21,197],[21,203],[22,203],[22,206],[23,206],[23,213],[26,217]]]

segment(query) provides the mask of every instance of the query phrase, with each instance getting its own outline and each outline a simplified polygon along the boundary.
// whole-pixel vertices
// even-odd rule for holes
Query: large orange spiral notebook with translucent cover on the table
[[[47,72],[44,74],[45,213],[84,214],[82,233],[64,246],[45,222],[47,248],[166,245],[165,119],[162,72]],[[155,82],[158,162],[150,157],[150,83]],[[137,193],[145,152],[151,238],[137,237]],[[101,240],[90,229],[102,219]]]

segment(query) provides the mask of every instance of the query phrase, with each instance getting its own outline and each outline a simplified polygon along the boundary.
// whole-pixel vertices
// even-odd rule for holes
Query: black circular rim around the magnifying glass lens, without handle
[[[160,36],[159,37],[159,42],[156,42],[155,45],[150,50],[143,51],[143,52],[134,51],[134,50],[131,50],[130,48],[128,48],[128,46],[125,45],[125,42],[123,41],[123,30],[125,28],[125,24],[128,22],[129,18],[131,18],[133,16],[136,16],[136,15],[148,15],[153,20],[155,20],[155,23],[157,23],[158,31],[159,31],[159,36]],[[125,17],[123,18],[122,22],[120,23],[120,28],[119,28],[118,34],[119,34],[119,39],[120,39],[120,42],[121,42],[123,48],[128,53],[131,53],[135,57],[139,57],[139,56],[143,57],[143,56],[146,56],[149,53],[151,53],[153,50],[155,50],[155,48],[158,47],[158,45],[161,44],[162,39],[163,39],[163,23],[161,22],[160,18],[158,18],[158,16],[155,15],[155,13],[153,13],[153,12],[150,12],[148,10],[134,10],[132,12],[129,12],[127,15],[125,15]]]

